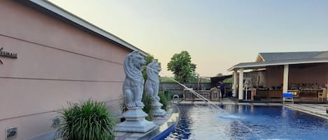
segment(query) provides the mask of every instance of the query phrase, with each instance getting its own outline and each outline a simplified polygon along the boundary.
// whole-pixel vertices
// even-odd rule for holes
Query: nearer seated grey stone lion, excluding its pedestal
[[[124,59],[125,79],[123,83],[124,104],[128,107],[144,107],[141,102],[143,98],[143,75],[142,65],[145,65],[145,59],[140,52],[134,51],[128,54]]]

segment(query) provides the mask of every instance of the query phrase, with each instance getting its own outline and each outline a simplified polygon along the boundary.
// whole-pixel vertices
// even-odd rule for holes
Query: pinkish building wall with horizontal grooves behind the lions
[[[0,19],[0,47],[18,57],[0,57],[0,140],[6,127],[17,127],[17,139],[52,130],[67,101],[119,111],[129,50],[15,1],[1,1]]]

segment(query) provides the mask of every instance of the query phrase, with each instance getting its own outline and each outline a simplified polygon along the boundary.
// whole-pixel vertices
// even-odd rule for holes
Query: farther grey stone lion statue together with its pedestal
[[[160,98],[158,96],[158,88],[159,88],[159,72],[162,69],[159,67],[158,63],[153,61],[147,65],[147,80],[145,81],[145,93],[152,97],[152,107],[154,110],[152,111],[153,116],[164,116],[166,111],[161,109],[163,104],[159,102]]]

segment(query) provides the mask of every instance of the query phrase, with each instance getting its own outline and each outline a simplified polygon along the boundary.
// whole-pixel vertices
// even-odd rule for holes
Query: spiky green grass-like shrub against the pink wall
[[[115,139],[115,118],[106,109],[104,102],[87,100],[63,107],[59,116],[62,121],[58,129],[64,140],[108,140]]]

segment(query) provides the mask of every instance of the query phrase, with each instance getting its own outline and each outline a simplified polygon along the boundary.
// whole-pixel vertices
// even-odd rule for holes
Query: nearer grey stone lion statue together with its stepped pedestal
[[[155,123],[145,120],[148,114],[142,110],[145,106],[141,102],[144,83],[142,65],[145,65],[145,59],[138,51],[131,52],[124,59],[123,100],[128,110],[123,114],[125,121],[117,125],[116,131],[144,133],[156,127]]]

